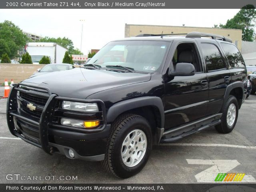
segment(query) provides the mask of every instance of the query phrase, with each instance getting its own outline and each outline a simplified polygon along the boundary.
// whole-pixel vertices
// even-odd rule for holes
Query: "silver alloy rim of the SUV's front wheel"
[[[122,144],[121,157],[123,163],[128,167],[136,166],[144,157],[146,149],[146,134],[139,129],[132,130],[127,134]]]

